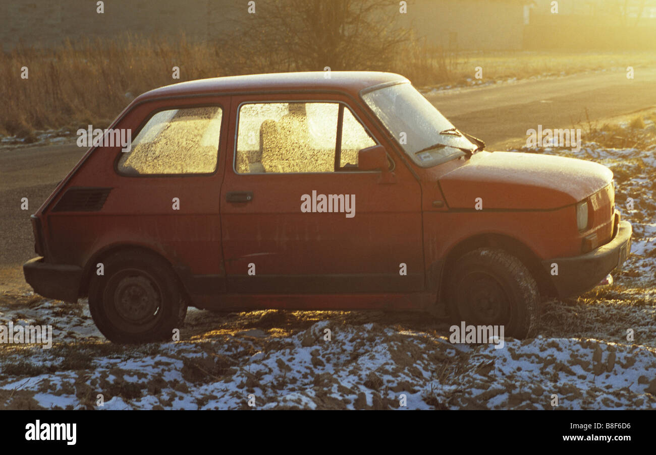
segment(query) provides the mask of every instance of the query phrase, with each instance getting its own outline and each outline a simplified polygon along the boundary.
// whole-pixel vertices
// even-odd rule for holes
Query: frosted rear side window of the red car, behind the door
[[[160,111],[121,152],[123,175],[212,173],[216,170],[222,109],[203,106]]]

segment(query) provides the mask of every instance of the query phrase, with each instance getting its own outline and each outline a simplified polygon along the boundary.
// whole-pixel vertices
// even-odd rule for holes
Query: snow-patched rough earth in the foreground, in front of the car
[[[656,409],[653,347],[538,337],[461,349],[446,337],[330,319],[289,337],[257,332],[115,347],[79,370],[29,348],[2,365],[20,357],[54,371],[0,374],[0,400],[20,409],[249,409],[253,398],[256,409],[551,409],[556,394],[564,409]]]

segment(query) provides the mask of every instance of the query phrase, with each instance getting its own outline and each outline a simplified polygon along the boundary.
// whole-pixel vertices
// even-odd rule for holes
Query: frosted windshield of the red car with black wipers
[[[408,82],[367,92],[362,99],[405,153],[422,168],[476,150],[477,146]]]

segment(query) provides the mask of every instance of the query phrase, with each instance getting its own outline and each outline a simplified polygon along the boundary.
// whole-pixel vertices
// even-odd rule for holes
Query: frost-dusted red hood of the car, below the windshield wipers
[[[613,179],[607,167],[562,156],[479,152],[440,177],[449,208],[554,209],[583,200]]]

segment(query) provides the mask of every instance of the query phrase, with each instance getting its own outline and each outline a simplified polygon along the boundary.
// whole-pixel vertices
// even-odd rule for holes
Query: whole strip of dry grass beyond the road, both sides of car
[[[483,68],[485,81],[656,60],[652,54],[462,54],[415,38],[401,47],[402,52],[377,65],[409,77],[417,86],[471,79],[476,66]],[[113,41],[68,41],[50,50],[18,46],[0,53],[0,134],[26,137],[30,142],[35,139],[33,130],[77,130],[89,124],[105,128],[134,96],[152,88],[206,77],[288,69],[275,62],[261,67],[252,59],[236,63],[230,57],[236,52],[234,46],[226,52],[224,46],[190,41],[184,35],[171,41],[126,34]],[[24,66],[28,67],[29,79],[21,79]],[[174,66],[180,67],[180,79],[173,79]],[[362,64],[335,69],[379,68]]]

